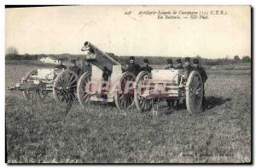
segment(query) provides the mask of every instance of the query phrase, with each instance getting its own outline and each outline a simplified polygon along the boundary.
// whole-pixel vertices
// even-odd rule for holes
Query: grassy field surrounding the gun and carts
[[[36,66],[6,65],[6,87]],[[52,99],[27,104],[21,93],[5,92],[9,163],[247,163],[251,161],[251,70],[209,70],[207,109],[166,113],[113,104],[75,102],[67,110]]]

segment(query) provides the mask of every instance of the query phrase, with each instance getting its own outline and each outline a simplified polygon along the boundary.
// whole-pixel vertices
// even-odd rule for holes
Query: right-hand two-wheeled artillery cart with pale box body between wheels
[[[134,100],[141,112],[159,107],[161,100],[185,100],[189,114],[202,110],[203,82],[198,71],[152,70],[137,75],[134,86]],[[153,112],[157,111],[153,108]]]

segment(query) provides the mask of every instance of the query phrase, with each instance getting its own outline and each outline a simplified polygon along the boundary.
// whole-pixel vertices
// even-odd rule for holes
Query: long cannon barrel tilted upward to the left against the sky
[[[113,65],[121,65],[118,61],[111,58],[107,53],[102,52],[99,48],[96,48],[90,42],[84,42],[82,51],[89,51],[86,55],[86,60],[96,65],[101,70],[104,70],[104,67],[108,70],[112,70]],[[122,69],[125,70],[125,67],[122,66]]]

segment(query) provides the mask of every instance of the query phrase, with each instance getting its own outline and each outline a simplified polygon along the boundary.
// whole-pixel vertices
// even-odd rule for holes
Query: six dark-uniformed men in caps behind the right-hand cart
[[[135,63],[135,58],[130,57],[130,61],[128,63],[126,70],[132,72],[133,74],[135,74],[137,76],[137,74],[140,71],[147,70],[148,72],[151,72],[151,70],[153,70],[153,68],[149,66],[148,59],[144,59],[143,67],[140,67],[138,64]],[[197,70],[200,73],[201,79],[203,82],[203,104],[204,104],[204,102],[205,102],[204,83],[207,81],[207,73],[204,70],[204,68],[201,65],[199,65],[198,59],[194,59],[193,65],[192,65],[190,62],[190,58],[186,57],[184,59],[184,66],[182,63],[182,59],[176,59],[175,65],[172,63],[172,59],[167,59],[167,66],[166,66],[165,70],[184,70],[185,76],[187,76],[187,77],[189,77],[190,72],[192,72],[193,70]],[[177,99],[169,98],[169,99],[166,99],[166,102],[168,105],[167,110],[177,110],[179,108],[179,100],[177,100]],[[176,102],[176,104],[175,104],[175,102]],[[185,107],[184,99],[183,99],[183,107]]]

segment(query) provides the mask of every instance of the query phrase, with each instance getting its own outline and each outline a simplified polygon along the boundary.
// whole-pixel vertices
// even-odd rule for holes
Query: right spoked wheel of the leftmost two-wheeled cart
[[[73,102],[79,76],[72,70],[62,71],[54,81],[53,95],[56,102]]]

